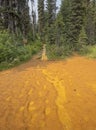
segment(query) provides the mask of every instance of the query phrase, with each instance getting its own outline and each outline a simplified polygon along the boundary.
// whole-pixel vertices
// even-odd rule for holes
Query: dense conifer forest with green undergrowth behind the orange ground
[[[56,2],[38,0],[37,18],[35,0],[0,0],[0,68],[30,59],[43,44],[49,59],[89,46],[96,57],[96,0],[62,0],[59,9]]]

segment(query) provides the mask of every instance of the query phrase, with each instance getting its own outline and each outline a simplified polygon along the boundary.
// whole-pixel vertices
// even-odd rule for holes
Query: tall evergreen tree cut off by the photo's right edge
[[[86,13],[86,31],[88,35],[88,43],[95,44],[96,42],[96,1],[88,2]]]

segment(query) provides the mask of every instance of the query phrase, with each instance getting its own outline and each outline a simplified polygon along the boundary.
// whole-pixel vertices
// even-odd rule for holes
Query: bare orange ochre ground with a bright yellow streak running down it
[[[0,72],[0,130],[96,130],[96,60],[30,61]]]

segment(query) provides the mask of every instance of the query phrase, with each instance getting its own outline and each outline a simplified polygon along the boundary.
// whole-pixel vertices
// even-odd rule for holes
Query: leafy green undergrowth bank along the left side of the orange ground
[[[41,43],[38,40],[24,46],[20,40],[15,39],[15,36],[8,31],[0,31],[0,70],[30,59],[41,49]]]

